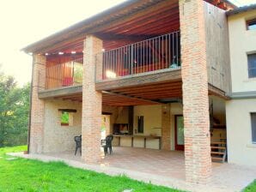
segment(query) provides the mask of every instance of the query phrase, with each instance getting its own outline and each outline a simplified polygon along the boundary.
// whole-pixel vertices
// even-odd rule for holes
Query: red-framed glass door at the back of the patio
[[[182,115],[175,116],[175,150],[184,151],[184,119]]]

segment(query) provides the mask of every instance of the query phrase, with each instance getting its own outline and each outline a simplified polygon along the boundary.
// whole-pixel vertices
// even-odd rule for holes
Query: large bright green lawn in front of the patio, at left
[[[44,163],[31,159],[9,159],[5,153],[26,151],[26,146],[0,148],[0,191],[94,191],[121,192],[170,191],[151,183],[138,182],[125,176],[110,177],[94,171],[85,171],[62,162]]]

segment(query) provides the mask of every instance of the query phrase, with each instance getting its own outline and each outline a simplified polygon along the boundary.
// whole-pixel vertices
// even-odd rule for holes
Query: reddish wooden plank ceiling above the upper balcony
[[[137,42],[136,39],[129,38],[131,35],[139,38],[143,34],[157,36],[174,30],[179,30],[179,17],[179,3],[177,0],[162,1],[156,3],[154,6],[143,9],[143,11],[138,11],[134,14],[126,15],[124,18],[95,27],[91,33],[100,36],[101,34],[108,34],[113,37],[116,35],[117,38],[112,40],[103,38],[104,49],[110,50],[122,45]],[[123,35],[124,38],[119,39],[119,35]],[[68,41],[62,45],[52,45],[47,50],[42,51],[55,53],[58,51],[82,52],[84,38],[84,36],[82,38],[78,36],[71,42]]]

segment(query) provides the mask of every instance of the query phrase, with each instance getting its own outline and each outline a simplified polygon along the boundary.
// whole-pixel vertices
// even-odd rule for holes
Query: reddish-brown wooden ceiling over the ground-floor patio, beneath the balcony
[[[169,102],[170,99],[181,99],[181,84],[181,81],[169,81],[103,91],[102,105],[155,105]],[[82,102],[82,93],[55,97],[54,99]]]

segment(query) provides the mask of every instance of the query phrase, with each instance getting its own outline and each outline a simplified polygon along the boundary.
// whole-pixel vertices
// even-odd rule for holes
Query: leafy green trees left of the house
[[[27,143],[29,84],[17,87],[14,77],[0,73],[0,147]]]

